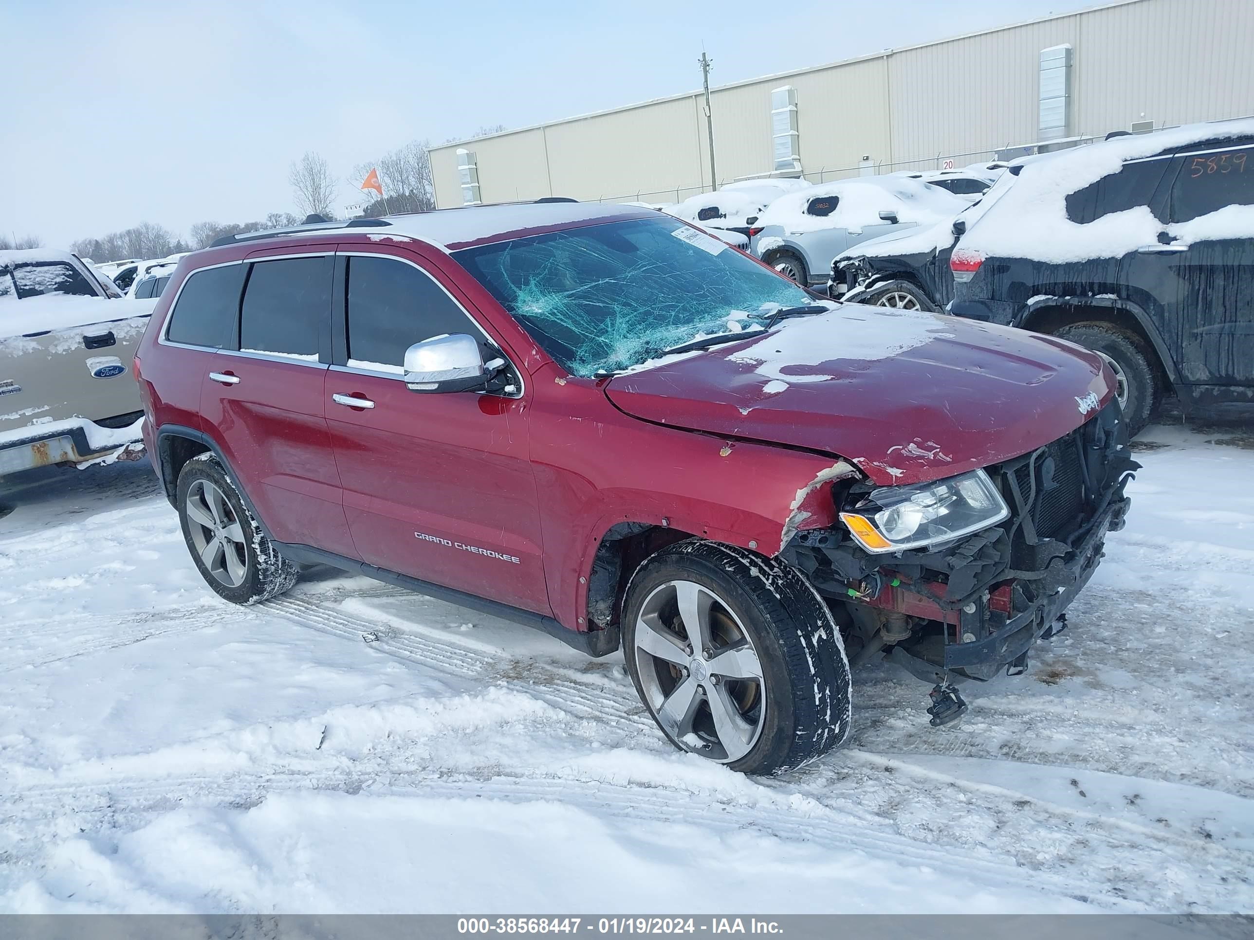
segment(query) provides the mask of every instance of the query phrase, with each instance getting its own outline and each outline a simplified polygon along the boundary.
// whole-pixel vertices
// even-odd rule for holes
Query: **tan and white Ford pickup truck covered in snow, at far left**
[[[139,456],[130,368],[154,306],[69,252],[0,251],[0,476]]]

